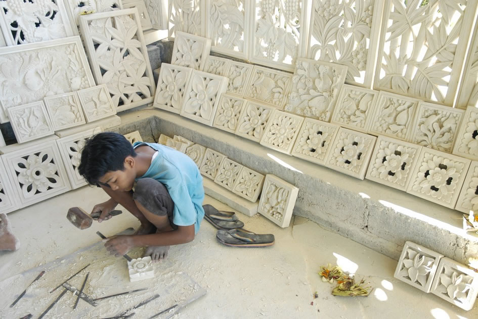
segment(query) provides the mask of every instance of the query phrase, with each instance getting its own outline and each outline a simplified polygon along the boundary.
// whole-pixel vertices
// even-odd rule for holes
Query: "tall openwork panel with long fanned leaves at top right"
[[[476,2],[386,2],[374,87],[452,105]]]

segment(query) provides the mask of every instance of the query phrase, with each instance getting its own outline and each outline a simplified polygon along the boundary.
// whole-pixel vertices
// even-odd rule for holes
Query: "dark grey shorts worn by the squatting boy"
[[[164,184],[153,178],[140,178],[136,183],[133,199],[149,212],[158,216],[167,216],[173,229],[178,226],[172,222],[175,203]]]

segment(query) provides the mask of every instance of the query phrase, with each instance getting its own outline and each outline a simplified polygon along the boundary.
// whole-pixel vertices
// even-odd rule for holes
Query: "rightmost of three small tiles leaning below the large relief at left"
[[[113,105],[106,84],[83,89],[77,93],[86,123],[95,122],[116,114],[116,108]]]

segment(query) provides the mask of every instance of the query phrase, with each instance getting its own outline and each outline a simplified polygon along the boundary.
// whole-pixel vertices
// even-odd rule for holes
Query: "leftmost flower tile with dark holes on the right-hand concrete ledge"
[[[306,117],[295,140],[291,155],[325,165],[339,128],[337,125]]]

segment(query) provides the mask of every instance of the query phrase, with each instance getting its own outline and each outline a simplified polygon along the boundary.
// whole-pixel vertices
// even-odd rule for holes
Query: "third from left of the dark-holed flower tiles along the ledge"
[[[379,136],[366,179],[407,191],[421,146]]]

